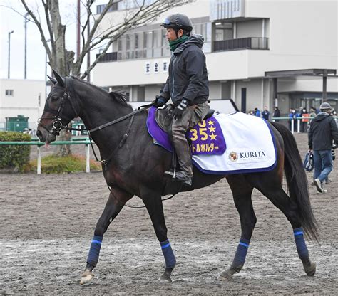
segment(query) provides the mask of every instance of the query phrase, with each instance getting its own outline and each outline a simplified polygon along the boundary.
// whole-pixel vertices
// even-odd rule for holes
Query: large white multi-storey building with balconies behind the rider
[[[132,2],[116,1],[103,29]],[[190,16],[193,33],[205,38],[210,100],[217,109],[222,111],[220,100],[232,98],[243,112],[277,105],[286,115],[290,108],[319,107],[323,87],[324,100],[337,109],[337,11],[337,1],[330,0],[193,0],[119,38],[94,68],[93,83],[125,91],[135,105],[154,100],[170,60],[159,25],[180,12]]]

